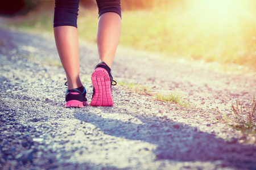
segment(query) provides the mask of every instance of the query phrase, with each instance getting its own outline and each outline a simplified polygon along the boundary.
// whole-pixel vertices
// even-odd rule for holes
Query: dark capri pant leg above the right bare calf
[[[120,0],[96,0],[96,2],[99,17],[106,12],[115,12],[122,18]]]

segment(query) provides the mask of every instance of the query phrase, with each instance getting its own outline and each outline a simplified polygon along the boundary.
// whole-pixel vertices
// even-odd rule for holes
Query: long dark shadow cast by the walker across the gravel
[[[111,114],[111,113],[108,113]],[[126,113],[134,116],[132,113]],[[179,162],[216,162],[220,167],[256,168],[256,147],[236,141],[227,142],[214,134],[198,131],[197,128],[180,124],[163,117],[136,115],[143,124],[133,124],[94,113],[75,113],[75,117],[100,128],[105,134],[115,137],[144,141],[157,145],[156,159]],[[82,117],[82,118],[81,118]],[[147,150],[147,148],[145,148]]]

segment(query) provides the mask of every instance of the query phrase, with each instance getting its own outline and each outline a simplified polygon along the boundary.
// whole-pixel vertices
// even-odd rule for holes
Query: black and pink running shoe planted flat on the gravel
[[[77,89],[67,90],[65,108],[77,107],[82,108],[87,105],[86,90],[80,92]]]

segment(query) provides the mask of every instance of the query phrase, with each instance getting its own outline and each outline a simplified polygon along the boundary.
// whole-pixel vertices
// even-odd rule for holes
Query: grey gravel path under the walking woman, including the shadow
[[[233,119],[236,99],[250,104],[255,74],[119,48],[115,80],[153,94],[179,91],[191,107],[114,86],[113,107],[67,109],[53,37],[2,28],[0,35],[0,169],[256,169],[255,135],[217,120],[220,112]],[[97,49],[81,43],[80,50],[90,101]]]

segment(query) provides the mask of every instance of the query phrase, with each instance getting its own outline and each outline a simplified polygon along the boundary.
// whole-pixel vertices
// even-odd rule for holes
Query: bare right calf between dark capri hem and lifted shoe
[[[98,19],[97,45],[100,62],[111,69],[121,31],[121,17],[115,12],[106,12]]]

